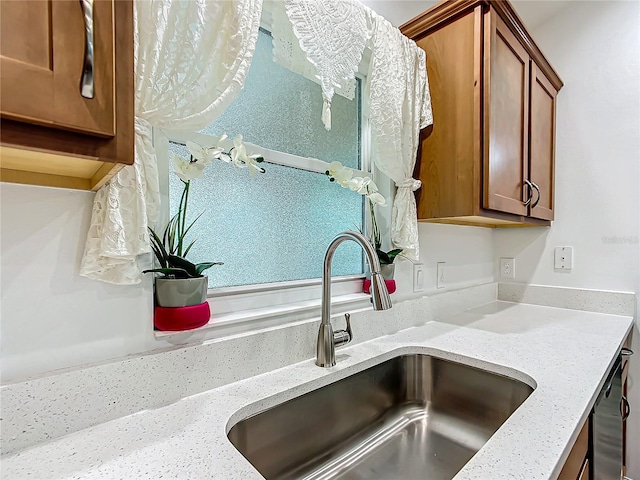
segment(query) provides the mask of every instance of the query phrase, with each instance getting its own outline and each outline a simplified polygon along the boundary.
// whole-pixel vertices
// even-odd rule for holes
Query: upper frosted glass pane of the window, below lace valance
[[[334,95],[332,128],[327,131],[320,119],[320,85],[278,65],[272,57],[271,37],[260,30],[243,90],[202,133],[242,134],[247,142],[261,147],[360,168],[360,80],[353,100]]]

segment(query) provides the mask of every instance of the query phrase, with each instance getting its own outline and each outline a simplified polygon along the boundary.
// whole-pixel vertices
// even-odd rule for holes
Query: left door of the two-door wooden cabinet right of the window
[[[485,14],[483,206],[526,215],[529,189],[529,55],[489,10]]]

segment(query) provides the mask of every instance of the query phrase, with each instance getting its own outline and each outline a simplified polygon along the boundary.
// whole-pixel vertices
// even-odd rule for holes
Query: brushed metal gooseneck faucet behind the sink
[[[346,330],[333,331],[331,326],[331,262],[333,254],[338,246],[346,241],[353,240],[367,254],[367,260],[371,270],[371,302],[374,310],[387,310],[391,308],[391,298],[384,278],[380,274],[380,260],[371,242],[358,232],[342,232],[334,238],[324,255],[324,268],[322,270],[322,322],[318,331],[318,344],[316,345],[316,365],[319,367],[333,367],[336,364],[336,347],[345,345],[353,338],[349,314],[345,315],[347,321]]]

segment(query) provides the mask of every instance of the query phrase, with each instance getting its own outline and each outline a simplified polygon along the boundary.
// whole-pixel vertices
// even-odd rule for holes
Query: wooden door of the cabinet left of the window
[[[89,5],[91,2],[85,2]],[[115,135],[113,1],[0,2],[0,113],[4,118],[100,137]],[[92,98],[81,95],[87,27]]]

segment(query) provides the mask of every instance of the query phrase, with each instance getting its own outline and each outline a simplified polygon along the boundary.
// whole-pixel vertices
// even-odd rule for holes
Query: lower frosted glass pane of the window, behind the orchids
[[[189,158],[183,145],[170,143],[170,149]],[[266,173],[251,177],[247,170],[214,161],[191,183],[188,217],[204,214],[189,233],[197,239],[189,259],[225,262],[207,271],[210,288],[320,278],[333,237],[362,224],[360,195],[319,173],[263,165]],[[174,173],[169,178],[173,215],[183,184]],[[362,272],[360,247],[342,244],[332,275]]]

